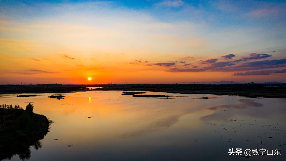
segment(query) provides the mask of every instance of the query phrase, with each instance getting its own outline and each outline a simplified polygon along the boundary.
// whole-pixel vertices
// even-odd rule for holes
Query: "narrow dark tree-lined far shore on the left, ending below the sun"
[[[21,85],[0,85],[0,92],[70,92],[77,89],[89,89],[82,86],[75,87],[35,87],[35,86],[21,86]]]

